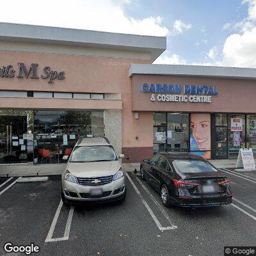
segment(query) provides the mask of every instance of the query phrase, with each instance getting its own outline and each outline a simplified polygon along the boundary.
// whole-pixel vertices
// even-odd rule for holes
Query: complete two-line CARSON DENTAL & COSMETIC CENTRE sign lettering
[[[141,91],[152,93],[151,101],[212,102],[212,95],[219,94],[216,86],[195,84],[141,84]],[[157,93],[157,95],[155,94]],[[164,93],[164,94],[163,94]]]

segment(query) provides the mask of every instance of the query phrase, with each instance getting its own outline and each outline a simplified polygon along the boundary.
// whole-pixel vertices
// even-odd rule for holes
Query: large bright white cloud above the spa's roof
[[[8,0],[1,22],[57,26],[63,28],[166,36],[168,29],[161,17],[134,19],[125,14],[131,0]]]

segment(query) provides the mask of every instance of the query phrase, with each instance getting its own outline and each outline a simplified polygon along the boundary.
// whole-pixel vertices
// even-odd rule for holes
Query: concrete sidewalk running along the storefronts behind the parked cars
[[[236,159],[210,160],[216,168],[236,168]],[[123,164],[126,172],[133,172],[134,168],[140,170],[140,163]],[[60,175],[65,164],[38,164],[38,165],[2,165],[0,166],[0,177],[17,176],[43,176]]]

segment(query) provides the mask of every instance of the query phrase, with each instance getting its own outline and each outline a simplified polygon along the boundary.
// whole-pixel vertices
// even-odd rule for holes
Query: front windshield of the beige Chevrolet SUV
[[[115,150],[111,146],[81,146],[74,148],[70,162],[117,161]]]

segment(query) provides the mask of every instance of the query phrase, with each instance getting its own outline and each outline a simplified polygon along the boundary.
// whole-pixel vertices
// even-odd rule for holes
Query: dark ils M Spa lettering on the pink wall
[[[0,68],[0,78],[1,77],[15,77],[15,73],[17,74],[16,77],[19,78],[32,78],[32,79],[39,79],[38,76],[38,63],[32,63],[30,67],[26,67],[23,62],[18,63],[18,72],[13,68],[12,65],[3,66]],[[65,72],[57,72],[52,71],[51,67],[44,67],[42,74],[40,75],[42,79],[47,79],[48,83],[54,83],[55,79],[63,80],[65,79]]]

